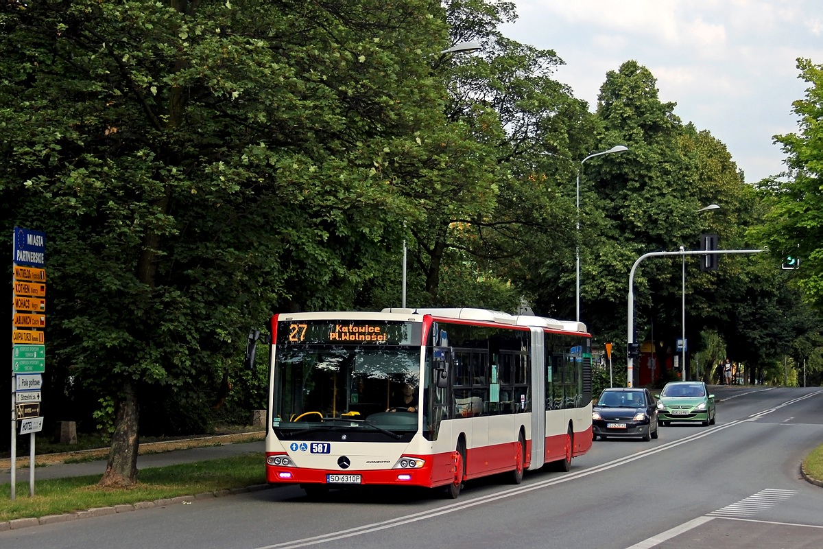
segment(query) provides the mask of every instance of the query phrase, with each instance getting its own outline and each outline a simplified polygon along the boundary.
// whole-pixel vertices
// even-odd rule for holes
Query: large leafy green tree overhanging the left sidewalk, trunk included
[[[442,112],[421,59],[444,19],[80,0],[5,2],[0,26],[0,213],[49,234],[49,348],[113,402],[101,483],[128,486],[142,406],[202,405],[249,323],[378,276],[410,208],[379,165]]]

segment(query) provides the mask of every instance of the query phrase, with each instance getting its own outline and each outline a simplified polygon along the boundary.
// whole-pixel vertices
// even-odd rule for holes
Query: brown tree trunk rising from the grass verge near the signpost
[[[129,488],[137,483],[137,448],[140,435],[137,423],[140,410],[131,383],[125,384],[114,415],[114,435],[109,449],[109,463],[98,486]]]

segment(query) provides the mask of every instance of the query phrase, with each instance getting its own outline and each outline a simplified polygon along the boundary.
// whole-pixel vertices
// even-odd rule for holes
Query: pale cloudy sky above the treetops
[[[821,0],[514,0],[504,36],[553,49],[555,78],[592,111],[606,74],[634,59],[674,113],[723,142],[755,183],[785,170],[775,134],[797,131],[809,87],[797,58],[823,64]]]

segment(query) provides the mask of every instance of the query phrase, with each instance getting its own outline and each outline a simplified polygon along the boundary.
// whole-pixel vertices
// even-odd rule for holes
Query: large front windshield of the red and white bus
[[[281,440],[340,431],[407,439],[417,431],[420,363],[420,347],[277,345],[272,427]]]

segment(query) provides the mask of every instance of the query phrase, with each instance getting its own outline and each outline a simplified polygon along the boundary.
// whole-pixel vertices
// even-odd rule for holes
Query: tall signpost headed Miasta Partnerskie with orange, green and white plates
[[[17,421],[30,435],[29,495],[35,495],[35,433],[46,370],[46,235],[15,227],[12,235],[12,500],[16,491]]]

